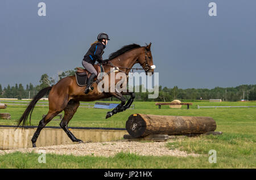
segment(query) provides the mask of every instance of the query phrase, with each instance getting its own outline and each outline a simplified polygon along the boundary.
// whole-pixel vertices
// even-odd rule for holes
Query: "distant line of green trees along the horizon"
[[[76,69],[75,69],[76,70]],[[71,76],[75,74],[75,70],[69,70],[62,72],[59,75],[59,80],[65,78],[66,76]],[[38,85],[33,85],[32,83],[27,84],[26,88],[22,84],[15,84],[11,87],[2,88],[0,84],[0,97],[1,98],[32,98],[34,97],[41,89],[52,86],[55,84],[55,80],[50,78],[47,74],[43,74],[39,80]],[[142,89],[142,85],[140,86]],[[167,88],[159,86],[159,96],[155,99],[148,99],[148,92],[136,92],[135,101],[172,101],[175,99],[179,100],[209,100],[210,98],[221,99],[224,101],[240,101],[245,100],[256,100],[256,84],[252,85],[239,85],[237,87],[215,87],[212,89],[207,88],[187,88],[181,89],[177,86],[173,88]],[[126,97],[129,98],[129,97]],[[115,98],[108,98],[105,100],[117,100]]]

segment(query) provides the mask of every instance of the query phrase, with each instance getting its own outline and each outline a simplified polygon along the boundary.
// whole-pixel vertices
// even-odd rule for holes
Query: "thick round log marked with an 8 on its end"
[[[203,134],[216,130],[216,122],[210,117],[131,114],[126,130],[134,138],[151,134]]]

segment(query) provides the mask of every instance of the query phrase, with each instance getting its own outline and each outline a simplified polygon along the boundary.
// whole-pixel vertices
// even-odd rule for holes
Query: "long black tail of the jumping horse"
[[[52,87],[43,88],[41,91],[39,91],[39,93],[37,95],[35,95],[33,100],[27,106],[27,109],[25,110],[25,112],[22,114],[22,117],[19,118],[18,125],[16,128],[19,127],[20,123],[22,123],[22,128],[24,128],[24,126],[27,125],[27,118],[28,118],[29,114],[30,114],[30,124],[31,124],[31,114],[33,112],[33,109],[35,108],[36,102],[38,102],[40,100],[40,98],[42,98],[49,91],[51,91],[51,89],[52,89]]]

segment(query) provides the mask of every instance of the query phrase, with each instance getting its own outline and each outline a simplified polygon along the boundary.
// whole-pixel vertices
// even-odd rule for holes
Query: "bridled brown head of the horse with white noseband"
[[[145,70],[146,75],[148,72],[152,72],[152,74],[154,74],[154,69],[155,69],[150,47],[151,47],[151,42],[149,45],[146,44],[146,46],[143,47],[144,48],[143,53],[139,55],[137,60]]]

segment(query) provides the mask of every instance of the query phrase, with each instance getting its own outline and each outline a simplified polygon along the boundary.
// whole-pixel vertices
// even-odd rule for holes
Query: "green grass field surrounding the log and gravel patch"
[[[105,101],[106,102],[106,101]],[[112,101],[113,102],[113,101]],[[92,102],[94,103],[94,102]],[[200,136],[197,138],[177,138],[168,143],[170,149],[180,149],[199,153],[201,157],[149,157],[129,153],[119,153],[115,157],[75,157],[47,155],[47,163],[39,164],[38,154],[12,153],[0,156],[0,168],[256,168],[256,108],[202,108],[200,106],[256,106],[256,102],[192,102],[191,109],[158,109],[155,102],[134,102],[135,109],[113,115],[105,119],[107,109],[79,108],[69,126],[84,127],[125,127],[130,114],[159,114],[212,117],[217,123],[220,136]],[[11,113],[11,120],[0,119],[0,125],[16,125],[26,105],[9,105],[0,109],[1,113]],[[47,107],[36,107],[31,125],[37,126]],[[59,126],[60,121],[51,121],[48,126]],[[208,152],[217,152],[217,163],[208,162]]]

